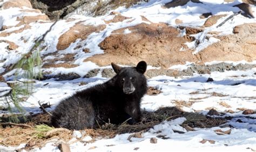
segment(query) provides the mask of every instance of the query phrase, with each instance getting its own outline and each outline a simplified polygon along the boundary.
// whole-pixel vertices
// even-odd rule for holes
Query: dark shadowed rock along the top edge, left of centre
[[[124,0],[124,1],[98,1],[98,0],[70,0],[70,1],[52,1],[52,0],[30,0],[33,8],[41,10],[49,16],[50,19],[60,18],[66,15],[72,16],[74,14],[83,13],[85,16],[96,17],[105,15],[110,10],[117,9],[119,6],[126,6],[129,8],[137,2],[147,0]]]

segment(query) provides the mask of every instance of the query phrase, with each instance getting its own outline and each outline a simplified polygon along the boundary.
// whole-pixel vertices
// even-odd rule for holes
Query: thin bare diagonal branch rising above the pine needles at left
[[[33,52],[33,50],[35,50],[43,41],[44,41],[44,38],[46,36],[46,34],[48,34],[52,27],[58,22],[58,19],[55,21],[55,23],[53,23],[51,26],[50,26],[50,29],[48,31],[46,31],[41,37],[38,37],[35,41],[35,44],[31,47],[31,49],[29,50],[28,53],[25,53],[23,54],[22,58],[19,60],[21,61],[23,58],[28,58],[31,53]],[[4,75],[12,70],[14,70],[16,68],[16,66],[18,65],[19,61],[17,61],[15,64],[11,65],[8,69],[6,69],[4,72],[2,72],[0,75]]]

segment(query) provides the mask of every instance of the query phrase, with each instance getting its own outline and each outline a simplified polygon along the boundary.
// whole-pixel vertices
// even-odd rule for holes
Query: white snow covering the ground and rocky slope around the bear
[[[208,45],[216,43],[219,39],[212,37],[207,34],[210,31],[220,32],[220,35],[232,34],[234,26],[244,24],[244,23],[256,23],[254,18],[246,18],[241,15],[234,16],[233,19],[228,20],[223,26],[216,27],[218,24],[223,22],[225,18],[232,15],[234,12],[238,12],[239,9],[233,7],[235,4],[241,3],[241,1],[234,1],[232,3],[226,3],[224,1],[208,1],[201,0],[203,4],[188,2],[184,6],[177,6],[176,8],[163,9],[162,6],[170,1],[157,1],[153,0],[149,3],[143,3],[141,5],[135,5],[129,9],[120,7],[114,11],[118,11],[121,15],[126,17],[131,17],[131,19],[126,19],[123,22],[105,24],[103,20],[110,20],[114,16],[104,15],[99,17],[87,17],[83,15],[73,15],[70,19],[75,19],[73,21],[66,22],[65,20],[59,20],[55,26],[53,26],[52,31],[50,31],[46,37],[43,46],[45,49],[41,51],[41,56],[45,54],[56,52],[56,46],[58,38],[68,31],[70,27],[74,26],[76,23],[83,21],[85,25],[100,25],[105,24],[106,28],[99,32],[91,33],[85,40],[77,40],[72,43],[67,49],[58,51],[58,57],[68,53],[78,53],[75,56],[74,63],[77,67],[73,68],[49,68],[43,69],[44,72],[52,72],[52,74],[68,74],[77,73],[83,77],[87,72],[93,68],[110,68],[110,66],[100,67],[91,61],[84,62],[86,58],[92,57],[95,54],[104,53],[100,49],[98,44],[102,42],[107,36],[110,36],[111,32],[120,28],[125,28],[124,33],[129,34],[132,31],[128,29],[129,26],[134,26],[140,23],[150,24],[142,20],[141,16],[145,16],[153,23],[164,22],[170,26],[178,26],[175,23],[176,19],[183,20],[179,26],[192,26],[200,27],[204,24],[206,19],[200,19],[199,16],[202,13],[212,12],[213,15],[227,14],[226,17],[218,20],[217,24],[206,27],[204,32],[193,35],[199,40],[200,44],[196,46],[196,41],[191,43],[185,43],[188,48],[194,49],[194,54],[202,51]],[[1,4],[2,2],[0,2]],[[251,5],[252,10],[254,10],[254,16],[256,16],[256,6]],[[22,16],[36,16],[38,13],[34,12],[21,12],[21,9],[10,8],[6,10],[0,10],[0,26],[14,26],[18,24],[16,20],[17,17]],[[0,37],[0,40],[10,40],[14,42],[19,47],[15,51],[9,51],[6,49],[8,44],[0,43],[0,72],[5,69],[3,67],[9,66],[16,63],[17,60],[26,53],[30,47],[33,45],[33,41],[38,37],[42,36],[46,30],[53,23],[30,23],[31,28],[22,31],[21,33],[10,34],[7,37]],[[21,25],[19,27],[11,27],[10,29],[4,30],[4,32],[11,32],[24,27]],[[181,30],[180,36],[186,34],[185,30]],[[208,37],[208,38],[206,38]],[[26,41],[26,43],[24,42]],[[74,48],[80,44],[83,46],[81,49],[75,50]],[[82,49],[90,49],[89,53],[84,53]],[[186,51],[181,49],[181,51]],[[48,56],[44,60],[55,59],[56,57]],[[220,61],[211,61],[210,63],[205,63],[205,65],[218,64]],[[234,66],[238,64],[256,64],[256,61],[248,63],[246,61],[225,61],[225,63],[231,63]],[[192,63],[186,62],[185,65],[174,65],[170,67],[171,70],[186,70],[190,67]],[[159,69],[160,67],[148,66],[149,69]],[[20,70],[21,71],[21,70]],[[4,77],[7,78],[13,75],[15,71],[11,71],[5,74]],[[159,75],[158,77],[151,78],[147,80],[148,86],[157,88],[162,93],[158,95],[145,95],[141,108],[153,112],[161,107],[167,106],[177,106],[178,101],[184,101],[185,103],[192,103],[191,106],[181,106],[185,112],[200,112],[202,114],[207,114],[209,109],[215,108],[218,112],[224,113],[234,118],[227,122],[227,124],[232,125],[234,128],[194,128],[196,131],[187,131],[185,128],[181,127],[181,124],[186,120],[185,118],[177,118],[171,121],[163,121],[159,125],[154,126],[149,131],[143,133],[142,138],[132,137],[131,141],[127,140],[130,134],[119,134],[112,139],[98,139],[95,142],[90,142],[92,137],[85,136],[82,141],[87,142],[73,142],[75,139],[79,139],[84,134],[78,130],[73,132],[73,139],[70,141],[71,151],[132,151],[134,148],[139,148],[138,151],[252,151],[251,149],[256,149],[256,114],[244,115],[239,110],[239,108],[253,109],[256,110],[256,68],[246,71],[225,71],[211,72],[211,74],[194,74],[192,77],[167,77],[166,75]],[[21,71],[22,73],[22,71]],[[206,80],[211,77],[214,81],[206,82]],[[9,77],[11,79],[12,77]],[[33,94],[28,100],[22,102],[21,105],[25,107],[27,114],[41,113],[38,108],[37,101],[40,100],[41,103],[50,102],[51,108],[46,108],[51,112],[56,105],[64,98],[72,95],[76,91],[81,89],[86,89],[96,84],[103,83],[108,79],[101,77],[100,73],[93,78],[79,78],[70,81],[55,81],[54,79],[38,81],[36,80],[33,88]],[[80,83],[85,82],[86,85],[81,86]],[[45,85],[48,84],[48,85]],[[10,87],[4,82],[0,82],[0,92],[2,94],[8,93]],[[223,106],[226,103],[228,106]],[[3,102],[0,102],[0,107],[5,107]],[[13,106],[13,105],[11,105]],[[227,110],[233,110],[234,113],[227,113]],[[4,112],[1,111],[2,115]],[[16,110],[17,112],[17,110]],[[220,116],[221,117],[221,116]],[[240,119],[242,122],[237,122]],[[214,130],[231,129],[231,134],[229,135],[217,135]],[[184,134],[174,133],[173,130],[179,130],[184,132]],[[169,139],[161,139],[158,135],[169,137]],[[157,143],[150,143],[150,139],[156,137]],[[210,142],[200,143],[203,139],[213,140],[214,144]],[[35,151],[59,151],[55,143],[56,140],[49,141],[42,148],[33,149]],[[4,147],[0,145],[0,150],[10,150],[19,149],[24,147],[25,144],[21,144],[19,147]],[[92,147],[97,147],[91,149]]]

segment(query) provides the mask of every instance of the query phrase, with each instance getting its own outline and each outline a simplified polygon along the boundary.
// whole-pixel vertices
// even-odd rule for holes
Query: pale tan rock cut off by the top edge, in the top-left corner
[[[23,6],[32,9],[32,5],[29,0],[10,0],[8,2],[3,3],[2,8],[22,8]]]

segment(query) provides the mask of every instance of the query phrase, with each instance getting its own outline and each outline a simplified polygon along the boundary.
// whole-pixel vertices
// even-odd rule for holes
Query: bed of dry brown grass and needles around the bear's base
[[[142,114],[142,122],[139,122],[136,125],[128,125],[127,123],[123,123],[122,125],[118,126],[106,123],[97,129],[85,129],[84,136],[89,135],[92,137],[93,141],[95,141],[100,137],[112,138],[117,134],[146,132],[148,129],[158,125],[164,120],[170,121],[181,116],[184,116],[187,119],[183,125],[188,125],[190,127],[208,128],[219,126],[226,122],[223,119],[210,118],[197,113],[183,112],[177,107],[164,107],[156,110],[156,112],[143,111]],[[41,147],[52,139],[63,141],[69,141],[72,139],[72,131],[63,128],[52,128],[50,130],[45,130],[43,132],[43,136],[37,136],[38,131],[36,129],[36,125],[49,123],[49,115],[47,114],[31,116],[28,118],[28,121],[29,122],[26,124],[32,126],[33,128],[3,126],[5,128],[3,128],[0,133],[0,144],[5,146],[18,146],[21,143],[26,143],[25,149],[31,149],[35,147]]]

